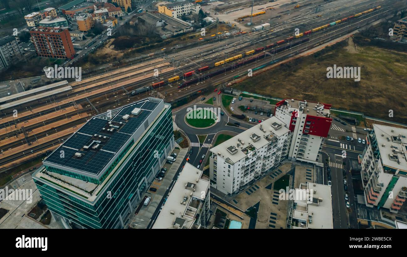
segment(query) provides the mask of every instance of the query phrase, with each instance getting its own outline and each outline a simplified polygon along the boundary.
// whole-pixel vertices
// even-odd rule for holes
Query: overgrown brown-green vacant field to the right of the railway
[[[326,68],[361,67],[361,80],[326,78]],[[373,46],[345,47],[315,57],[296,59],[233,85],[278,98],[324,102],[333,108],[407,123],[407,54]],[[394,117],[389,118],[389,110]]]

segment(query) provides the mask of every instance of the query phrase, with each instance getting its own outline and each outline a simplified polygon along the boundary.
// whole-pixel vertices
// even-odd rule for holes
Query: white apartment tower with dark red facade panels
[[[296,99],[285,99],[276,104],[275,117],[292,132],[289,160],[323,165],[319,162],[319,156],[324,137],[328,136],[332,124],[330,107]]]

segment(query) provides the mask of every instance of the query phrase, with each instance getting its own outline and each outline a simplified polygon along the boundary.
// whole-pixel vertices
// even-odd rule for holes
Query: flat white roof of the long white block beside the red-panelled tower
[[[273,116],[211,148],[210,151],[236,163],[247,156],[247,152],[243,151],[247,147],[262,148],[270,141],[277,140],[275,137],[280,137],[286,133],[289,133],[289,129],[285,127],[284,122]]]

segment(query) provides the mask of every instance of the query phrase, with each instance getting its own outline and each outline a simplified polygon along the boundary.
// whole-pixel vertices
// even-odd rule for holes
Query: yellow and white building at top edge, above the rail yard
[[[167,16],[178,18],[182,15],[198,14],[201,6],[195,1],[173,2],[171,4],[160,4],[158,12]]]

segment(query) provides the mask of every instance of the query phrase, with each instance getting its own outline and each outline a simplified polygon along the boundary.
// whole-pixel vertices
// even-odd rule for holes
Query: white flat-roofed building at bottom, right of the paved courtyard
[[[292,229],[333,229],[330,185],[308,182],[295,188]]]

